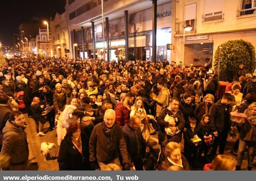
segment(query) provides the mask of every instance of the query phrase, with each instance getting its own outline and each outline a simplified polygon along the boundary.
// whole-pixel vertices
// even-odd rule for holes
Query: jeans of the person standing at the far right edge
[[[253,159],[255,156],[255,148],[256,148],[256,142],[254,141],[244,141],[241,138],[239,138],[239,146],[238,146],[238,152],[237,152],[237,165],[241,166],[242,161],[244,159],[244,151],[246,146],[248,145],[248,167],[252,167]]]

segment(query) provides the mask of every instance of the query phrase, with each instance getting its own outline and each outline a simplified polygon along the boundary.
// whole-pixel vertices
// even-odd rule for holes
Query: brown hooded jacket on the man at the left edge
[[[20,163],[27,160],[28,142],[24,128],[15,127],[10,121],[7,121],[3,134],[1,155],[11,156],[11,163]]]

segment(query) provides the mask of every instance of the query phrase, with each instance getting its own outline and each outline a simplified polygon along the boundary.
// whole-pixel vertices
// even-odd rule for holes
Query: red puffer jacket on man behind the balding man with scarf
[[[121,102],[116,105],[116,124],[120,127],[126,125],[130,120],[130,110]]]

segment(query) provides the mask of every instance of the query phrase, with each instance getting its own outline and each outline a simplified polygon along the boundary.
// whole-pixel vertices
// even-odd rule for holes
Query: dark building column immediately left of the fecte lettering
[[[156,14],[157,14],[157,0],[152,1],[152,62],[156,62]]]

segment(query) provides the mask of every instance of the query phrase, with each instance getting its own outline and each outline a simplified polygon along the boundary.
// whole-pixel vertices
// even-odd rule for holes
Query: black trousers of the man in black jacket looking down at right
[[[227,138],[228,138],[228,129],[224,129],[222,132],[218,131],[218,136],[214,137],[214,142],[212,145],[212,156],[216,155],[218,146],[220,146],[219,154],[224,154]]]

